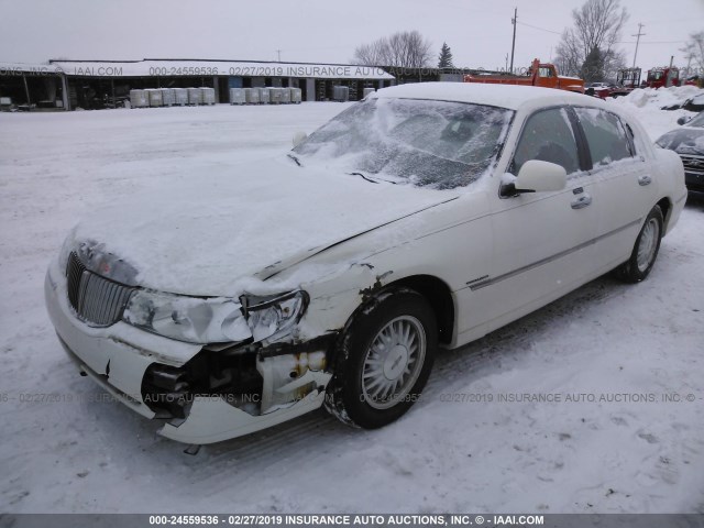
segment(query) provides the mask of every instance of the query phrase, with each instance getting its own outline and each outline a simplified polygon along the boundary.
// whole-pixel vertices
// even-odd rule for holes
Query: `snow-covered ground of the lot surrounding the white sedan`
[[[610,103],[652,139],[686,113]],[[442,353],[382,430],[320,411],[190,457],[78,375],[43,301],[78,218],[280,152],[344,107],[0,114],[0,512],[704,512],[703,202],[648,280],[603,277]],[[22,402],[37,394],[73,402]]]

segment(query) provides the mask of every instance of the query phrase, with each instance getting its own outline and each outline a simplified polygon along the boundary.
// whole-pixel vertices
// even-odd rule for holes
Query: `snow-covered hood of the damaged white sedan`
[[[235,295],[230,289],[238,279],[265,278],[268,271],[457,194],[373,184],[282,156],[100,207],[75,228],[65,249],[82,245],[108,255],[96,271],[128,284]]]

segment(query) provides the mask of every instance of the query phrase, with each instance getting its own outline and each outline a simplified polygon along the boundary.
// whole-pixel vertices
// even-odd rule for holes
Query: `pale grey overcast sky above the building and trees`
[[[0,0],[0,62],[48,58],[227,58],[348,63],[356,45],[418,30],[452,48],[455,66],[505,67],[518,7],[516,66],[549,61],[584,0]],[[694,31],[704,0],[622,0],[620,47],[644,70],[666,65]],[[526,25],[528,24],[528,25]]]

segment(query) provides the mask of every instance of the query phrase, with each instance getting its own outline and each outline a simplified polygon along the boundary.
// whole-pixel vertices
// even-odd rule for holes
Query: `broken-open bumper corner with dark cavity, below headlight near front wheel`
[[[330,333],[305,343],[206,345],[183,366],[152,363],[141,398],[163,436],[211,443],[286,421],[322,405]]]

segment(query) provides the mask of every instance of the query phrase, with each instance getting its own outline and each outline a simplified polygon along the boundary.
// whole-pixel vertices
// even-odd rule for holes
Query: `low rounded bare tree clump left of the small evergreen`
[[[418,31],[404,31],[362,44],[354,50],[352,64],[424,68],[430,65],[430,48],[431,43]]]

